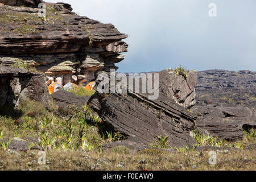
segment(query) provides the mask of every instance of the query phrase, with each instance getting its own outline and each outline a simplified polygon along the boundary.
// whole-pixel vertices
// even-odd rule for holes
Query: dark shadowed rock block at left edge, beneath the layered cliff
[[[49,92],[46,77],[41,73],[32,73],[26,69],[0,66],[0,107],[13,105],[17,107],[23,98],[43,102],[49,106]]]

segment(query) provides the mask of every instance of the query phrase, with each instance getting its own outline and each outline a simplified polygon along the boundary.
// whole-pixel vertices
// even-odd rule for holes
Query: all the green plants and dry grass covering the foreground
[[[127,136],[109,130],[87,106],[47,110],[38,102],[20,101],[18,110],[6,107],[0,111],[0,170],[255,170],[256,167],[255,150],[217,152],[214,166],[208,163],[208,151],[194,151],[197,146],[242,148],[245,143],[255,142],[253,129],[244,131],[245,139],[233,143],[194,131],[196,146],[177,148],[172,154],[158,148],[133,154],[125,146],[101,150],[102,144]],[[8,142],[14,137],[38,138],[39,143],[29,142],[29,146],[42,146],[47,164],[38,164],[38,151],[10,153]],[[3,143],[2,138],[9,140]],[[159,136],[158,142],[160,147],[164,146],[168,136]]]

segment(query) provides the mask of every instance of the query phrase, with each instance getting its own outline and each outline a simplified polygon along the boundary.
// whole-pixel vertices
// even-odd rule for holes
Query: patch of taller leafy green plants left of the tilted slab
[[[18,110],[11,106],[1,109],[0,128],[6,138],[37,138],[39,143],[29,143],[30,146],[45,150],[92,150],[111,142],[106,134],[109,128],[88,106],[71,105],[48,111],[38,102],[20,101]],[[121,139],[125,135],[113,132],[113,140]]]

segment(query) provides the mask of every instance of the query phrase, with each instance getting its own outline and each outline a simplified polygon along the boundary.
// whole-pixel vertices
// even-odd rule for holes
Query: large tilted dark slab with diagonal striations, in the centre
[[[148,100],[146,94],[100,94],[88,104],[115,131],[121,131],[133,142],[149,144],[164,134],[170,146],[195,143],[189,132],[195,129],[196,115],[176,104],[163,93],[158,100]]]

